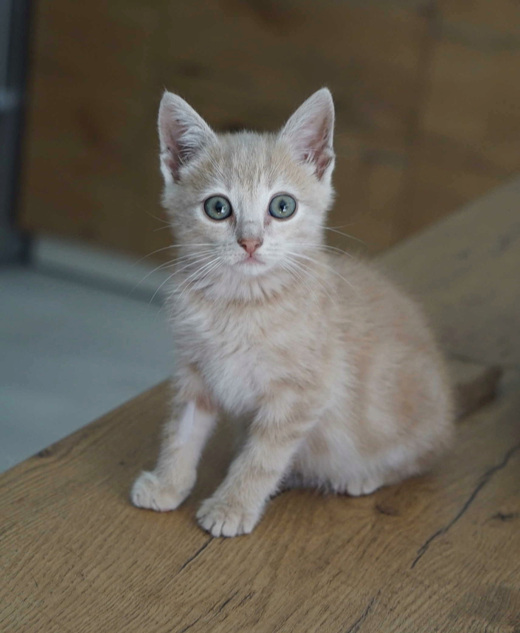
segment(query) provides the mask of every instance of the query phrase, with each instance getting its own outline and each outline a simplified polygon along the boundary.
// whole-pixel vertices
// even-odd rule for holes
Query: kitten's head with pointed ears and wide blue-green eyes
[[[279,134],[216,134],[186,101],[165,92],[158,128],[163,203],[177,240],[208,273],[214,265],[257,277],[294,266],[297,254],[322,243],[334,168],[327,89],[307,99]]]

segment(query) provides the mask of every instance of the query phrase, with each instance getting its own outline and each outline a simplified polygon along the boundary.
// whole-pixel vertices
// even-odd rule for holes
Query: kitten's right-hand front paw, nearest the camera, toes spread
[[[242,506],[218,497],[202,502],[197,513],[201,528],[213,536],[239,536],[249,534],[257,525],[260,511],[244,510]]]

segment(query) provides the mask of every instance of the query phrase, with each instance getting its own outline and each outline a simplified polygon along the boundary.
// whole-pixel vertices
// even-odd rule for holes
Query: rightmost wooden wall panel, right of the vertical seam
[[[514,7],[505,0],[440,6],[403,206],[406,233],[481,196],[520,168],[520,83],[515,79],[520,76],[520,5],[509,25],[505,18],[512,18]]]

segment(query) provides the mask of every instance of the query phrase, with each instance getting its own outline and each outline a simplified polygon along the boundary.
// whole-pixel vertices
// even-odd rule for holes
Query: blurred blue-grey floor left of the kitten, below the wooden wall
[[[151,270],[53,240],[34,265],[0,268],[0,471],[168,376]]]

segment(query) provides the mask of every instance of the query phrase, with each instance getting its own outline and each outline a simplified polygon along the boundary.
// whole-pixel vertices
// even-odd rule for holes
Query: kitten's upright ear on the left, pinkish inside
[[[161,172],[166,184],[175,182],[181,166],[216,139],[215,132],[205,120],[173,92],[163,94],[157,127]]]

